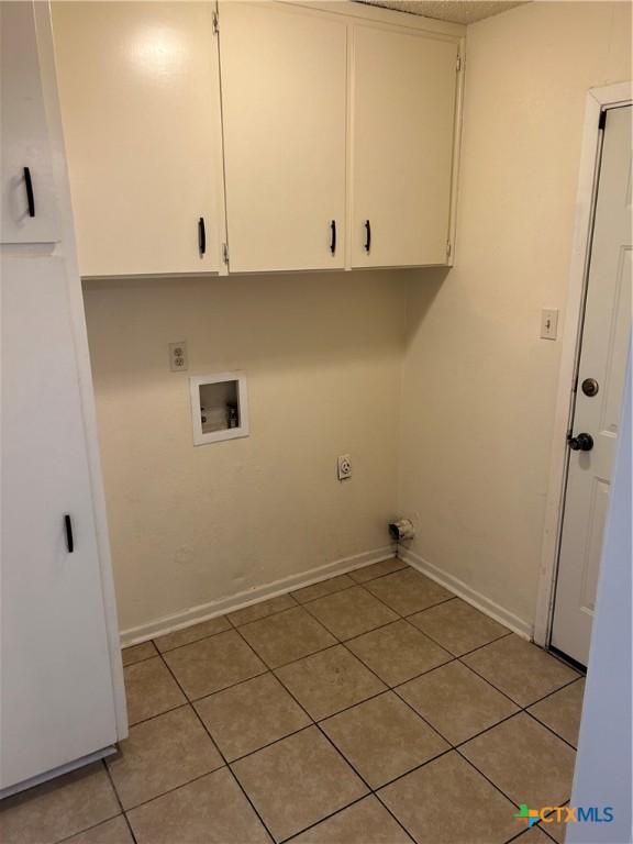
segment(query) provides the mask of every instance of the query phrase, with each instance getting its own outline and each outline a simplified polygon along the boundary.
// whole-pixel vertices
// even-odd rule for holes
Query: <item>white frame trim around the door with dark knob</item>
[[[589,270],[590,246],[593,234],[593,218],[598,188],[602,132],[599,129],[600,112],[603,109],[633,104],[633,82],[618,82],[591,88],[587,93],[582,147],[578,175],[578,192],[571,247],[569,284],[563,347],[556,391],[554,436],[549,458],[545,519],[541,544],[541,567],[534,618],[534,642],[548,647],[554,620],[554,597],[560,553],[560,534],[567,482],[568,448],[567,432],[574,409],[574,379],[580,355],[581,329],[585,297]]]

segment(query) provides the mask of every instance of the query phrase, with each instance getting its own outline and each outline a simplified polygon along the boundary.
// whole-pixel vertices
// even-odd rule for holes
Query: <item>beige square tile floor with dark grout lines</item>
[[[123,652],[120,752],[0,803],[2,844],[546,844],[584,679],[400,560]]]

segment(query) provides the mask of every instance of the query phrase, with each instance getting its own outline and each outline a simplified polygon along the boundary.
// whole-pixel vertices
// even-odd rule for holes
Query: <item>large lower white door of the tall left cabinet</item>
[[[116,728],[65,268],[4,256],[1,270],[5,788],[107,747]]]

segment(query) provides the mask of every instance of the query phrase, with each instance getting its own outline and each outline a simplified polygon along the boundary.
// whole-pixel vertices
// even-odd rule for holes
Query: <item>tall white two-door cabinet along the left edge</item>
[[[102,754],[126,721],[47,5],[0,5],[0,187],[16,209],[0,246],[2,796]],[[23,173],[15,199],[25,166],[33,215]]]

